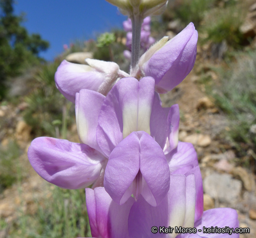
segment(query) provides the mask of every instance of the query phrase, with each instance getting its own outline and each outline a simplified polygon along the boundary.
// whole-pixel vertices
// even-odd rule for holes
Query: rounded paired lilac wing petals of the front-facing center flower
[[[140,195],[159,205],[170,186],[170,171],[163,149],[144,131],[132,132],[111,152],[105,169],[104,187],[111,198],[124,204]]]

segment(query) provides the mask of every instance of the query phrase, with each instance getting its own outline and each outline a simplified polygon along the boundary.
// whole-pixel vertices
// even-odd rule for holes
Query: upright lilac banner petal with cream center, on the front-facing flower
[[[145,131],[163,149],[168,136],[167,116],[151,77],[121,79],[100,109],[97,142],[105,155],[133,131]]]

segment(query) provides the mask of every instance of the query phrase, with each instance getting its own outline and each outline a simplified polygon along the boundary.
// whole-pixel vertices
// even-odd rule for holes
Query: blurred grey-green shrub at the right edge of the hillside
[[[236,143],[246,143],[256,147],[256,56],[255,51],[239,53],[230,70],[221,74],[221,87],[212,94],[217,105],[228,114],[230,121],[229,137]]]

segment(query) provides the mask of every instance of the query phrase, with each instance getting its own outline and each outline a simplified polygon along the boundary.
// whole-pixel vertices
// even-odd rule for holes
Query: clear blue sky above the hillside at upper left
[[[95,38],[96,33],[122,27],[127,19],[105,0],[15,0],[15,14],[26,13],[23,26],[51,44],[40,56],[52,60],[63,45]]]

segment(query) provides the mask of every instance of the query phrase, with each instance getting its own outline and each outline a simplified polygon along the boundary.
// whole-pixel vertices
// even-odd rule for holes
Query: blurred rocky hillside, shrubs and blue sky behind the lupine
[[[63,59],[109,61],[109,52],[128,71],[126,17],[104,0],[30,2],[0,0],[0,238],[89,237],[84,190],[45,182],[27,150],[39,136],[79,142],[54,74]],[[169,0],[152,17],[152,37],[172,38],[189,22],[199,32],[196,64],[161,95],[163,106],[180,105],[179,139],[196,147],[204,209],[235,208],[251,230],[240,238],[255,238],[256,1]]]

